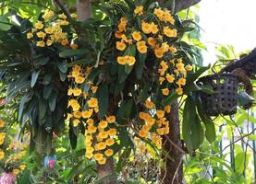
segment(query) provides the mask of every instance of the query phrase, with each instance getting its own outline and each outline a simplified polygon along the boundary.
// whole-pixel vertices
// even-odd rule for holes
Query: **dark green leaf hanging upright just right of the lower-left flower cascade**
[[[109,97],[108,94],[109,92],[108,92],[107,84],[101,85],[97,90],[101,118],[104,118],[108,109],[108,97]]]

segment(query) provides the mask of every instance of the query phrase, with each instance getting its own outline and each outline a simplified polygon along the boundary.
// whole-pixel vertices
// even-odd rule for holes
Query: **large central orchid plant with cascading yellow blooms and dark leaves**
[[[169,9],[155,1],[126,3],[101,5],[110,25],[106,20],[88,20],[88,41],[80,44],[80,50],[86,47],[91,52],[85,57],[73,53],[77,62],[68,75],[71,144],[75,147],[78,133],[85,132],[85,155],[100,165],[120,150],[124,150],[121,157],[128,156],[137,148],[134,138],[160,154],[162,136],[169,133],[170,104],[202,90],[194,82],[208,69],[193,72],[193,52],[181,41],[186,28]],[[191,120],[201,132],[184,139],[203,138],[200,118]],[[213,122],[208,123],[213,141]],[[192,126],[184,127],[190,134]],[[117,168],[122,165],[120,159]]]

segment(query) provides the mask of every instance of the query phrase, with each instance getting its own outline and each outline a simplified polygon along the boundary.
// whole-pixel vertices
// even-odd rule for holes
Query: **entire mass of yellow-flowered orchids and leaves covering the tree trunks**
[[[18,121],[30,130],[31,147],[41,145],[43,150],[43,140],[51,147],[53,132],[63,132],[67,118],[71,146],[75,148],[79,133],[84,134],[85,157],[98,163],[100,178],[113,174],[115,167],[121,171],[139,143],[147,152],[153,150],[152,155],[174,157],[176,170],[165,174],[178,176],[180,182],[181,155],[169,152],[176,146],[184,152],[173,104],[189,96],[182,127],[192,154],[204,137],[195,110],[203,87],[194,82],[208,69],[193,63],[195,53],[182,40],[191,25],[175,11],[188,7],[187,2],[180,6],[180,1],[78,0],[80,21],[62,1],[55,0],[55,6],[59,12],[45,10],[34,24],[12,12],[19,24],[12,23],[1,34],[4,79],[9,93],[16,89],[8,97],[20,98]],[[13,47],[11,40],[19,44]],[[192,129],[189,121],[199,129]],[[214,127],[208,127],[206,137],[213,141]],[[171,158],[165,159],[167,164]]]

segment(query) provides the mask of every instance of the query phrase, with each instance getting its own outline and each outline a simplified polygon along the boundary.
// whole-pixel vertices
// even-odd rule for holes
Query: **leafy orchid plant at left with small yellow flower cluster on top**
[[[12,21],[16,18],[18,24]],[[75,17],[73,15],[72,17]],[[51,149],[53,132],[65,129],[67,63],[59,57],[76,50],[73,30],[64,14],[46,10],[35,25],[17,14],[10,28],[0,31],[0,67],[7,84],[6,103],[19,99],[17,121],[31,132],[30,148],[40,153]]]

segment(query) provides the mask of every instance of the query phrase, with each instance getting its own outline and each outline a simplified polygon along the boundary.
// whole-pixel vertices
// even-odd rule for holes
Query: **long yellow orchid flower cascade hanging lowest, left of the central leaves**
[[[78,127],[81,123],[85,126],[85,156],[104,165],[106,158],[114,155],[111,146],[116,143],[116,116],[109,114],[104,120],[98,119],[100,109],[98,98],[95,96],[98,86],[93,85],[88,78],[91,70],[91,67],[83,68],[75,65],[68,75],[72,85],[67,92],[69,96],[67,106],[72,113],[67,115],[67,119],[73,122],[74,127]]]

